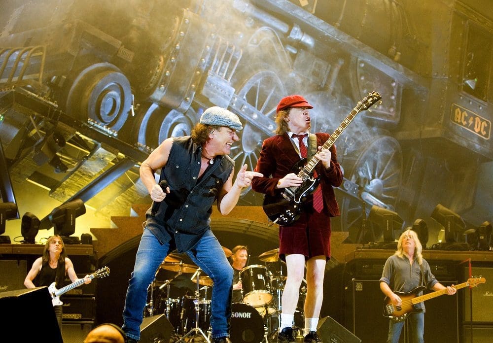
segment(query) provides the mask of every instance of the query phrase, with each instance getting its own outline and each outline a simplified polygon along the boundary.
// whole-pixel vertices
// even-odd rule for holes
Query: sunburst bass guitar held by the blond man
[[[486,279],[484,277],[474,277],[467,279],[466,282],[455,285],[456,289],[464,288],[469,286],[470,288],[476,287],[480,283],[485,283]],[[447,294],[446,289],[431,292],[417,297],[416,295],[426,289],[424,286],[419,286],[410,292],[395,292],[401,299],[402,303],[400,306],[395,306],[392,304],[391,300],[386,297],[384,300],[384,317],[388,317],[395,322],[404,321],[407,319],[409,313],[420,312],[421,309],[416,309],[415,305],[422,303],[425,300],[433,299],[440,295]]]

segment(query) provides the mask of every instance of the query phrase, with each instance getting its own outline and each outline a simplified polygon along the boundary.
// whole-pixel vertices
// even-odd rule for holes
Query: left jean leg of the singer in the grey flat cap
[[[159,265],[168,254],[169,246],[169,242],[161,245],[147,228],[144,229],[137,249],[134,271],[129,280],[123,309],[122,329],[128,337],[135,340],[139,340],[141,337],[140,325],[147,302],[147,288],[154,280]]]

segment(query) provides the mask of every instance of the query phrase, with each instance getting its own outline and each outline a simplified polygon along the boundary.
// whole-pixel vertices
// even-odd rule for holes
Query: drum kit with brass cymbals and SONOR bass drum
[[[232,255],[228,248],[223,247],[223,250],[226,257]],[[258,259],[266,262],[267,266],[255,264],[240,271],[243,302],[233,303],[230,321],[231,340],[235,343],[269,343],[269,338],[272,341],[281,324],[281,296],[286,277],[282,275],[282,264],[279,271],[271,270],[276,262],[280,262],[279,249],[266,251]],[[162,314],[154,313],[153,289],[156,287],[163,291],[166,288],[166,296],[159,299],[158,310],[163,311],[173,325],[177,339],[174,342],[210,343],[211,300],[208,300],[207,293],[214,286],[211,277],[198,266],[183,263],[180,255],[176,254],[166,257],[160,269],[176,274],[164,282],[154,280],[149,286],[147,313],[151,316]],[[190,280],[196,284],[194,295],[171,298],[170,285],[182,274],[192,274]]]

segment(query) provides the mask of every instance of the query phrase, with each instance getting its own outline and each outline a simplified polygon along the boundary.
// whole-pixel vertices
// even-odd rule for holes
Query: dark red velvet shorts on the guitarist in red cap
[[[330,217],[325,213],[302,212],[290,226],[279,227],[279,257],[286,254],[305,255],[308,260],[325,255],[330,258]]]

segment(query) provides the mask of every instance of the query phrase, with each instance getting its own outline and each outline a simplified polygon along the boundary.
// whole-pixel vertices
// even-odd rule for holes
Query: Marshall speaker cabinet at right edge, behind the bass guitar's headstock
[[[485,283],[480,283],[471,289],[464,288],[464,322],[493,323],[493,268],[472,268],[472,277],[484,277]],[[464,268],[464,278],[469,278],[469,269]],[[459,291],[460,292],[460,291]]]

